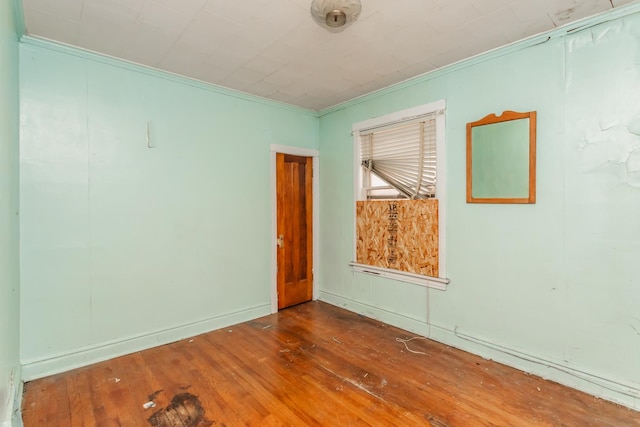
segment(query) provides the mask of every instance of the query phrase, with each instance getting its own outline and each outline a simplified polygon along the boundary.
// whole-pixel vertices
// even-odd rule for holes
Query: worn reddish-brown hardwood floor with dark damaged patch
[[[26,427],[640,426],[640,412],[312,302],[25,385]],[[408,351],[408,349],[412,350]],[[153,402],[155,407],[144,409]]]

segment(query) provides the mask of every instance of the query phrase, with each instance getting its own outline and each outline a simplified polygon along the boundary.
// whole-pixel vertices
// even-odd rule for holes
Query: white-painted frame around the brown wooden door
[[[313,179],[311,182],[313,212],[313,300],[318,299],[317,271],[320,253],[320,152],[311,148],[291,147],[271,144],[271,313],[278,312],[278,195],[276,192],[276,153],[313,158]]]

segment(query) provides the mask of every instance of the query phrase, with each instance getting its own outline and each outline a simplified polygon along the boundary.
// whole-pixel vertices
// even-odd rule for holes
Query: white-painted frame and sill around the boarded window
[[[353,136],[353,158],[354,158],[354,191],[353,191],[353,253],[352,259],[356,259],[357,237],[356,230],[356,211],[355,206],[358,200],[367,200],[366,194],[362,191],[363,187],[363,171],[361,166],[361,138],[360,132],[366,129],[388,126],[394,123],[401,123],[408,120],[414,120],[419,116],[439,112],[436,115],[436,196],[438,200],[438,277],[423,276],[414,273],[407,273],[400,270],[375,267],[370,265],[358,264],[355,261],[349,263],[354,272],[371,274],[379,277],[385,277],[407,283],[413,283],[420,286],[426,286],[435,289],[446,289],[449,283],[447,278],[446,263],[446,230],[447,230],[447,198],[446,198],[446,135],[445,135],[445,116],[446,102],[439,100],[428,104],[419,105],[417,107],[408,108],[384,116],[375,117],[354,123],[352,126]]]

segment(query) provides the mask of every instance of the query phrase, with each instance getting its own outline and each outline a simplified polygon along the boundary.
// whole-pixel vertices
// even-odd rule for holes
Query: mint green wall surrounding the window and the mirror
[[[606,19],[323,112],[321,298],[640,408],[640,15]],[[354,274],[351,125],[439,99],[451,283]],[[537,202],[467,204],[465,124],[504,110],[538,112]]]

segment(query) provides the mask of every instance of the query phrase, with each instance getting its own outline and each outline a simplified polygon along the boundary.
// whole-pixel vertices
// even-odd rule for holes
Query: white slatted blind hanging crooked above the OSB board
[[[368,199],[435,197],[436,114],[360,131]]]

